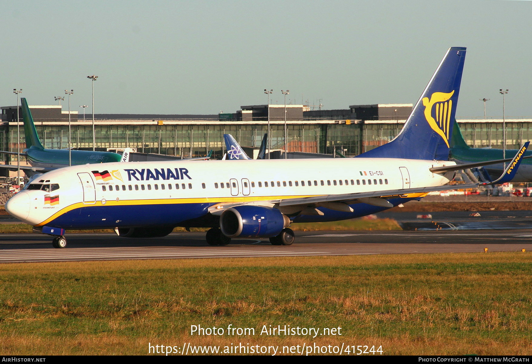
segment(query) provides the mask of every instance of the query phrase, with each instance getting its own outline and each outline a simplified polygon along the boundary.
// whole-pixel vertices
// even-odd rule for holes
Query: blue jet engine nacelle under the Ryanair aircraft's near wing
[[[290,219],[275,208],[263,206],[236,206],[220,216],[222,233],[229,238],[268,238],[278,235],[290,225]]]

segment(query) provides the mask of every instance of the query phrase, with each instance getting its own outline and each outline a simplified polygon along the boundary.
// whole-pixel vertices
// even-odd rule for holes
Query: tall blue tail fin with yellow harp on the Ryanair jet
[[[449,48],[399,134],[357,157],[447,160],[464,60],[464,47]]]

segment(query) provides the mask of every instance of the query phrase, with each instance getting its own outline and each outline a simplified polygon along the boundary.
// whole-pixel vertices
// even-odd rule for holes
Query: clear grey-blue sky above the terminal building
[[[241,105],[415,103],[468,47],[456,116],[532,116],[532,1],[5,1],[0,105],[217,114]],[[66,99],[63,101],[66,105]]]

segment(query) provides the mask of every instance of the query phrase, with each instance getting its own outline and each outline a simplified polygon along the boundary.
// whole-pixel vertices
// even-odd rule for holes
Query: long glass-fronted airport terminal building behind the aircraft
[[[0,148],[17,149],[16,106],[4,106]],[[45,148],[68,147],[68,111],[59,105],[30,106],[37,133]],[[412,104],[352,105],[348,109],[311,110],[306,105],[286,105],[288,152],[354,156],[393,139],[412,110]],[[285,105],[242,106],[218,115],[95,115],[96,150],[136,148],[138,153],[200,157],[214,150],[225,153],[222,134],[232,134],[243,147],[260,147],[268,128],[271,148],[284,149]],[[21,114],[20,114],[21,115]],[[85,119],[71,112],[72,147],[93,148],[92,115]],[[458,120],[465,141],[472,147],[502,148],[503,121],[483,118]],[[506,119],[507,148],[517,149],[532,138],[532,118]],[[20,122],[20,150],[26,147]],[[0,155],[2,162],[16,156]],[[11,160],[9,160],[11,158]],[[16,162],[15,162],[16,163]]]

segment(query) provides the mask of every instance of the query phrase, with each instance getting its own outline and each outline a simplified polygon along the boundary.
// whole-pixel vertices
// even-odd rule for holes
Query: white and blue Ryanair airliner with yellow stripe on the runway
[[[211,245],[269,238],[289,245],[297,222],[337,221],[420,199],[462,169],[447,160],[465,48],[448,49],[397,137],[356,158],[105,163],[61,168],[15,194],[5,209],[66,246],[69,229],[114,228],[156,238],[211,227]],[[515,174],[523,146],[500,179]],[[485,183],[486,184],[486,183]]]

